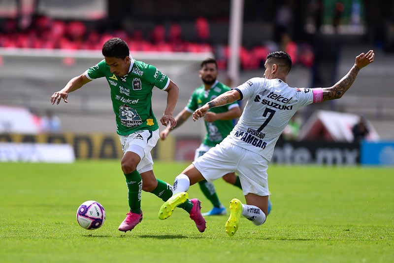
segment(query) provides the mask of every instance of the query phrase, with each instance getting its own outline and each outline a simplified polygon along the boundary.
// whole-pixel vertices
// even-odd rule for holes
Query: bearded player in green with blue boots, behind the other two
[[[186,107],[176,115],[175,121],[177,126],[174,128],[181,126],[199,107],[230,90],[230,87],[216,79],[218,75],[218,64],[215,59],[207,58],[201,62],[199,77],[203,84],[194,90]],[[210,148],[222,142],[234,127],[234,119],[238,118],[240,115],[241,109],[237,102],[214,108],[206,113],[204,116],[206,129],[205,138],[202,144],[197,148],[194,159],[196,160]],[[171,127],[167,126],[160,133],[160,138],[165,140],[170,131]],[[242,189],[239,177],[236,176],[235,173],[226,174],[223,176],[223,179],[231,185]],[[214,185],[206,180],[198,182],[198,185],[202,193],[213,205],[213,208],[209,212],[202,215],[226,215],[226,208],[220,202]]]

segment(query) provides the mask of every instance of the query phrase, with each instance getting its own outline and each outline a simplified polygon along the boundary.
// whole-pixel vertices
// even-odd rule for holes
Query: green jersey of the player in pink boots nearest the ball
[[[102,60],[89,68],[86,76],[89,79],[107,79],[119,135],[159,128],[152,111],[152,89],[154,86],[167,88],[169,78],[156,67],[131,58],[129,74],[119,77],[111,73],[105,60]]]

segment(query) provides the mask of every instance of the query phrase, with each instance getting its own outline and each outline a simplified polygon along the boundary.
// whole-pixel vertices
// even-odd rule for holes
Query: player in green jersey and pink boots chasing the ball
[[[120,231],[130,231],[142,221],[141,190],[152,192],[163,201],[172,195],[172,187],[156,179],[151,150],[159,140],[159,125],[152,111],[152,90],[167,92],[167,105],[160,122],[170,128],[176,121],[172,116],[178,100],[178,86],[156,67],[134,60],[128,44],[121,38],[111,38],[102,46],[104,59],[82,75],[73,77],[66,86],[51,97],[52,104],[66,103],[68,93],[93,79],[105,77],[110,88],[117,133],[124,155],[121,168],[126,177],[130,212],[119,225]],[[200,232],[205,220],[198,199],[187,200],[180,207],[190,214]]]

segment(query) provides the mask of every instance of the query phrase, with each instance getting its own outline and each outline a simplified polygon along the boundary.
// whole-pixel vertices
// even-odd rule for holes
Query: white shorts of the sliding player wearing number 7
[[[239,175],[244,195],[248,193],[260,196],[269,194],[268,161],[256,152],[222,142],[198,157],[193,165],[208,182],[236,172]]]

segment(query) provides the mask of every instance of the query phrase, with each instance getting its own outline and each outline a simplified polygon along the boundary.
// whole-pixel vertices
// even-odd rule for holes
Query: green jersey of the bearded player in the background
[[[216,81],[209,90],[205,90],[204,85],[201,85],[193,92],[189,99],[186,109],[193,113],[198,108],[203,106],[205,103],[218,97],[220,94],[229,91],[230,87],[223,83]],[[238,107],[237,102],[231,104],[215,107],[209,109],[213,113],[224,113],[229,111],[233,107]],[[234,127],[233,120],[215,120],[213,122],[205,121],[206,135],[204,138],[204,145],[215,146],[220,143]]]

